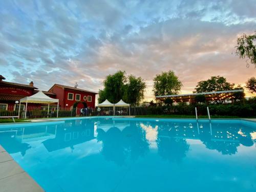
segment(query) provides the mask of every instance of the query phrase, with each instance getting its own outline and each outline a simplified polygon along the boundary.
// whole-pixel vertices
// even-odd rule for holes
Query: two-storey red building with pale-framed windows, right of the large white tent
[[[59,99],[60,107],[68,107],[78,102],[77,108],[83,108],[81,102],[86,102],[90,108],[95,108],[95,92],[78,89],[75,87],[63,86],[62,84],[54,84],[49,92],[55,93],[56,98]]]

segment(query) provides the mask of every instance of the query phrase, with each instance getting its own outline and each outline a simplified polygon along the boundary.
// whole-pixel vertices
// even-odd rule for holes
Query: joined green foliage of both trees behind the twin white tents
[[[108,99],[117,103],[120,99],[132,105],[138,104],[144,98],[146,83],[141,77],[125,76],[125,71],[106,76],[103,90],[99,90],[98,102]]]

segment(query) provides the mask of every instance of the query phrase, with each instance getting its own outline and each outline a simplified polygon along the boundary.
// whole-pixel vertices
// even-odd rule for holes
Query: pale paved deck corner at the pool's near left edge
[[[43,192],[0,145],[0,192]]]

